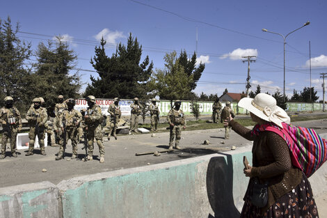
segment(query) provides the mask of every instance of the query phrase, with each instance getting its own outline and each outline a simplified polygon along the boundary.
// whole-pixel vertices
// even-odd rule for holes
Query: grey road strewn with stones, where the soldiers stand
[[[327,120],[311,120],[293,123],[303,127],[312,127],[318,133],[326,133]],[[208,123],[210,125],[210,123]],[[154,134],[118,134],[118,140],[111,137],[110,141],[104,137],[105,162],[99,163],[99,149],[95,143],[93,161],[83,162],[84,157],[83,141],[79,144],[78,158],[70,159],[72,155],[72,146],[70,142],[67,145],[65,159],[56,161],[54,158],[58,152],[58,147],[47,147],[47,155],[39,154],[38,148],[35,149],[33,156],[25,156],[26,150],[18,150],[20,155],[15,157],[6,157],[0,161],[0,187],[21,185],[24,183],[40,182],[48,180],[58,184],[61,180],[67,180],[76,176],[83,176],[103,171],[115,171],[117,169],[127,169],[136,166],[145,166],[148,164],[158,164],[161,162],[170,162],[177,159],[197,157],[217,152],[230,150],[232,146],[246,146],[252,144],[250,141],[239,137],[231,131],[230,139],[225,140],[223,129],[195,130],[182,132],[181,146],[182,150],[163,152],[168,148],[169,133]],[[203,142],[209,140],[209,145]],[[8,144],[9,146],[9,144]],[[153,153],[154,151],[163,152],[159,157],[152,154],[139,155],[136,153]],[[9,150],[7,154],[9,155]],[[42,172],[47,169],[47,172]],[[327,193],[316,198],[320,217],[327,218]]]

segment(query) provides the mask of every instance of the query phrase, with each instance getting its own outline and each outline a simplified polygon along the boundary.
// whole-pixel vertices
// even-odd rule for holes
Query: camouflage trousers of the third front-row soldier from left
[[[70,141],[72,141],[72,154],[77,155],[77,139],[78,139],[77,133],[78,133],[77,127],[67,127],[65,136],[64,136],[64,133],[61,132],[61,139],[59,139],[60,148],[59,148],[58,155],[62,156],[63,153],[65,153],[65,149],[67,147],[67,142],[69,139],[70,139]],[[64,146],[64,144],[66,146]]]

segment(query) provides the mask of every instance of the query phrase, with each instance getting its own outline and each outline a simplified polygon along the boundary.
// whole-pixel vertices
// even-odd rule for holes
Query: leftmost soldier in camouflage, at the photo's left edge
[[[0,159],[6,157],[6,145],[10,139],[11,156],[17,157],[16,154],[16,137],[17,133],[22,130],[22,118],[19,111],[13,106],[13,98],[5,98],[5,107],[0,109],[0,122],[2,125],[1,155]]]

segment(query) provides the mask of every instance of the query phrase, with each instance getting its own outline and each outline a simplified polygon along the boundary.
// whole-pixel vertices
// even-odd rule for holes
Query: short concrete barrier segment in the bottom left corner
[[[0,189],[0,217],[62,217],[58,188],[51,182]]]

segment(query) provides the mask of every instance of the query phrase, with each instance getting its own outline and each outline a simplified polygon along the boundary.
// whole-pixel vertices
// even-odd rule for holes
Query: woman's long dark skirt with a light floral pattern
[[[262,215],[260,208],[252,205],[249,196],[245,197],[241,218],[303,217],[318,218],[318,210],[308,178],[303,175],[301,183],[291,192],[281,196],[269,210]]]

